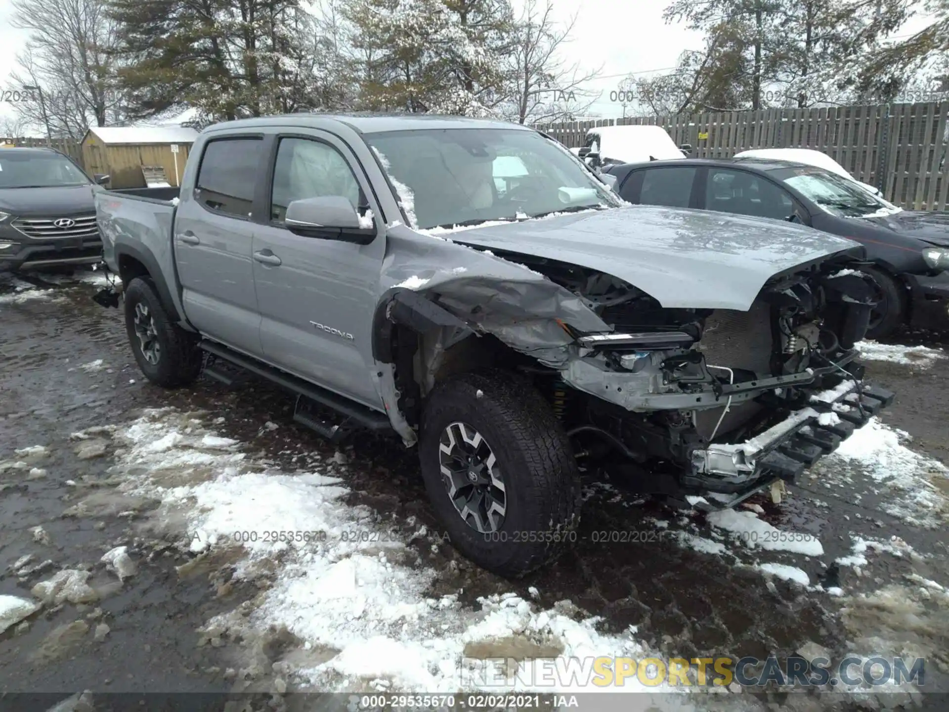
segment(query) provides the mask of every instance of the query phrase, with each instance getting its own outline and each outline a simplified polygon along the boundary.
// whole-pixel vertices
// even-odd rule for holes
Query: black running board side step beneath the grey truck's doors
[[[338,441],[345,432],[345,426],[352,423],[371,430],[376,433],[384,433],[392,430],[392,423],[388,417],[378,410],[367,408],[361,403],[355,403],[340,396],[326,388],[318,385],[309,384],[301,378],[290,375],[278,368],[262,364],[250,356],[234,351],[232,348],[216,344],[207,339],[202,340],[198,347],[210,354],[232,364],[250,371],[251,373],[267,379],[272,384],[279,385],[281,388],[294,393],[297,396],[296,407],[294,408],[293,420],[301,425],[312,428],[327,440]],[[205,369],[207,373],[209,369]],[[208,373],[215,380],[225,382],[218,377],[218,372]],[[227,381],[233,383],[233,379],[227,378]],[[331,425],[312,412],[311,404],[322,405],[337,414],[344,417],[341,425]]]

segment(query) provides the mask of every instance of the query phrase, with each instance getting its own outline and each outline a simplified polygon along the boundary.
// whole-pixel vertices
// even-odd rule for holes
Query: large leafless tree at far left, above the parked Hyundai
[[[12,5],[13,27],[27,30],[29,38],[17,56],[20,70],[10,78],[40,87],[31,101],[17,104],[20,116],[33,125],[48,122],[51,133],[74,139],[90,125],[121,121],[116,24],[105,0],[13,0]]]

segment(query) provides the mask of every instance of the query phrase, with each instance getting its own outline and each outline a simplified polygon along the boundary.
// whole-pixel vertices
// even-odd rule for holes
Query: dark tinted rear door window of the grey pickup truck
[[[261,139],[219,139],[204,148],[195,200],[216,213],[248,218],[262,157]]]

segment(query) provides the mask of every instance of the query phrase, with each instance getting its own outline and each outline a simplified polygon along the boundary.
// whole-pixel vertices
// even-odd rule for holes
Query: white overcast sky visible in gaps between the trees
[[[519,4],[515,0],[515,4]],[[601,91],[591,107],[605,118],[621,116],[623,107],[609,101],[609,93],[628,73],[644,75],[668,70],[676,65],[684,49],[702,47],[701,35],[682,25],[662,21],[663,0],[555,0],[555,14],[561,22],[576,14],[572,41],[565,47],[571,61],[589,69],[603,67],[602,77],[589,88]],[[16,66],[16,53],[26,41],[25,33],[10,27],[12,7],[0,0],[0,89],[13,88],[9,73]],[[925,26],[924,18],[914,18],[899,35]],[[0,103],[0,117],[10,112]]]

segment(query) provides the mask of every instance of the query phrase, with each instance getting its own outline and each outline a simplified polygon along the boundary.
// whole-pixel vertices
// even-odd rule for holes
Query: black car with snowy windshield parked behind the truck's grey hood
[[[801,222],[862,243],[882,299],[870,329],[949,327],[949,213],[906,211],[823,168],[771,159],[682,159],[606,166],[631,203]]]

